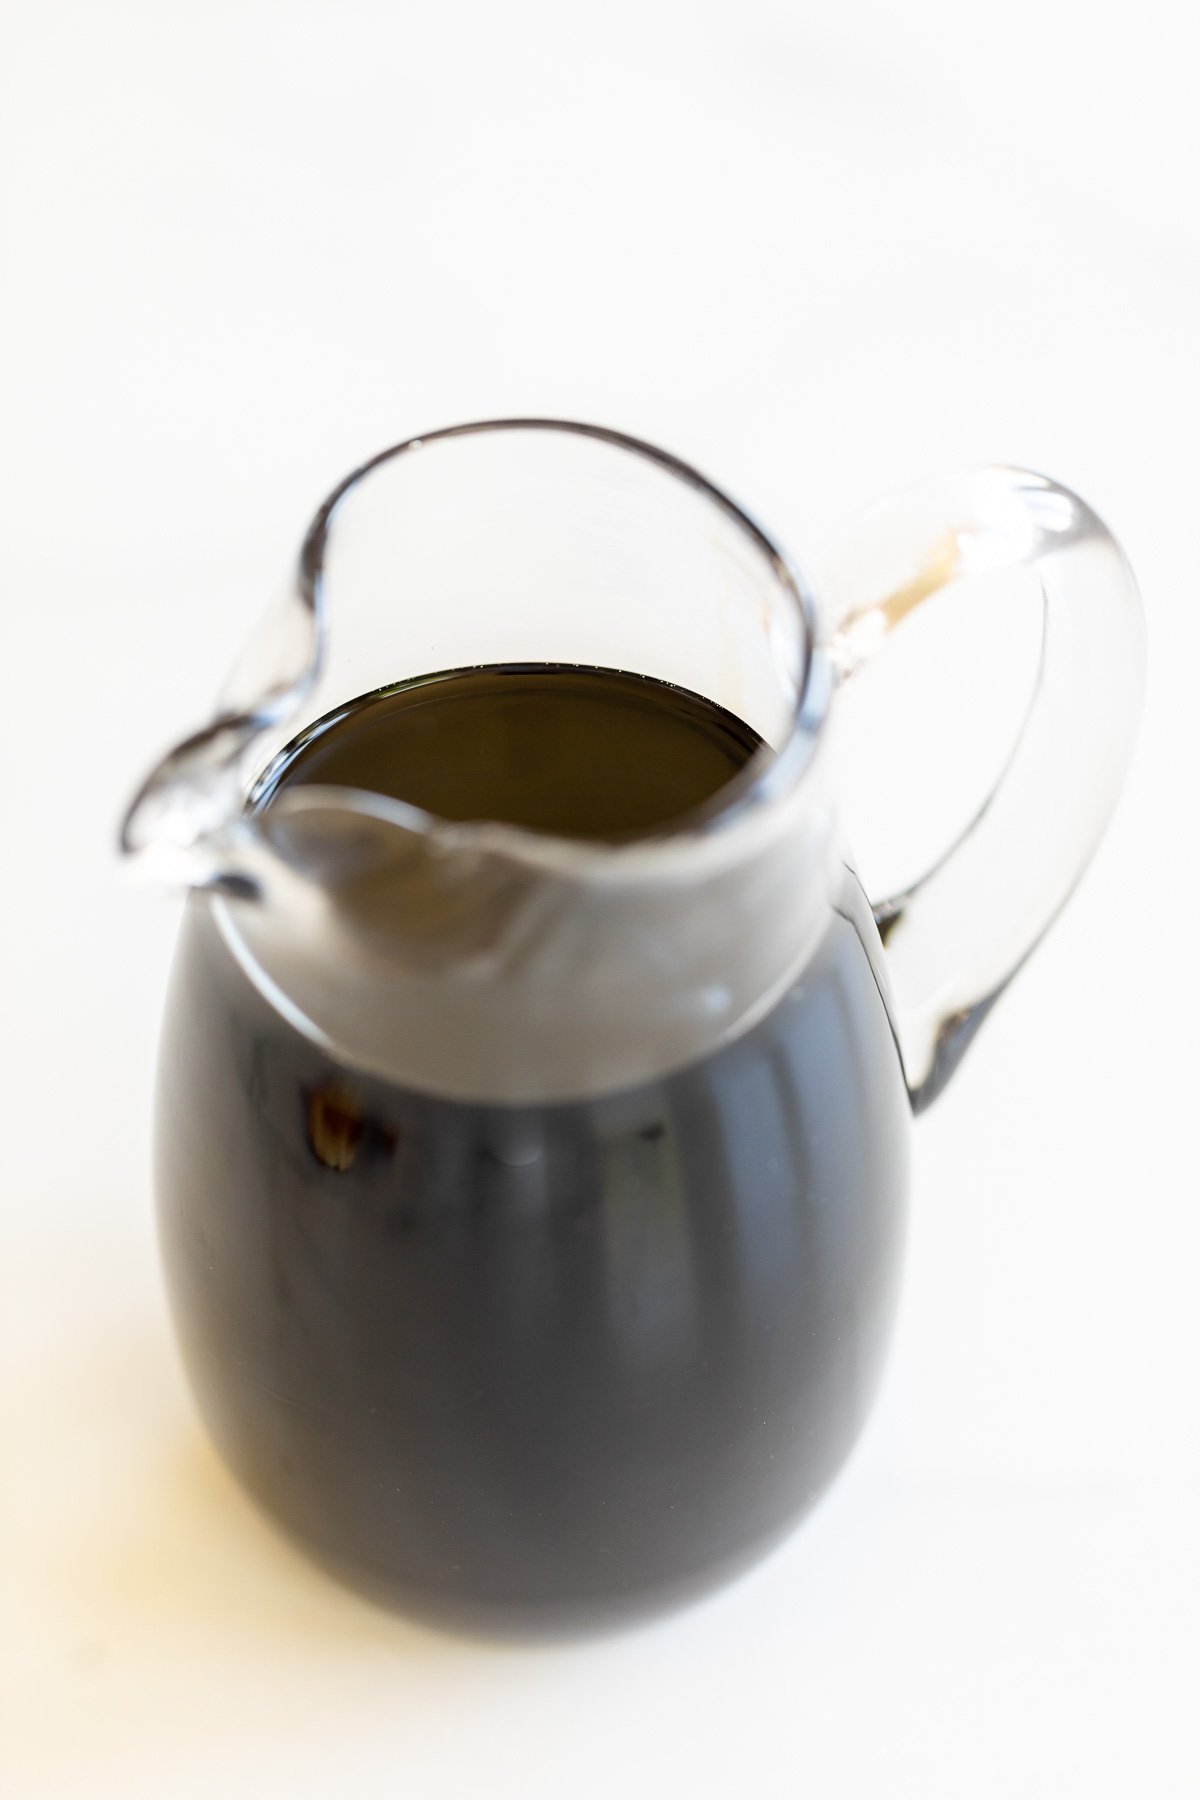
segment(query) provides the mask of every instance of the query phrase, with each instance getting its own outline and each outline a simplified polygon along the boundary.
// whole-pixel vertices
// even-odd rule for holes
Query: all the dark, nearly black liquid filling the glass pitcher
[[[756,745],[639,677],[466,671],[309,729],[259,803],[349,781],[628,837]],[[907,1098],[876,963],[846,871],[802,979],[736,1042],[594,1100],[477,1105],[340,1066],[193,904],[162,1235],[250,1490],[378,1598],[504,1633],[682,1598],[777,1539],[844,1460],[892,1312]]]

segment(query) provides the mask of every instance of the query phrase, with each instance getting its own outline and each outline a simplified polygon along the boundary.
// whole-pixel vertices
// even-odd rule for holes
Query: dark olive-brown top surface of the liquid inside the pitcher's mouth
[[[327,783],[441,819],[615,842],[702,808],[761,742],[712,700],[646,675],[457,670],[365,695],[309,725],[275,760],[257,803],[284,785]]]

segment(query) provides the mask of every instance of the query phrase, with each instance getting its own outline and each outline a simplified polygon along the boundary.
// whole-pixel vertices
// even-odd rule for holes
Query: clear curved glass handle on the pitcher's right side
[[[1141,713],[1142,610],[1096,513],[1015,468],[930,481],[874,506],[824,571],[846,679],[930,594],[1013,567],[1033,567],[1043,594],[1042,659],[1016,747],[928,875],[873,900],[916,1112],[943,1091],[1105,830]],[[970,594],[966,581],[963,605]]]

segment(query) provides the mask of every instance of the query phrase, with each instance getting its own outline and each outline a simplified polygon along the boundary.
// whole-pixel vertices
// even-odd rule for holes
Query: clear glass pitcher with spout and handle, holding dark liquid
[[[1020,740],[932,873],[871,900],[838,689],[1015,565],[1043,592]],[[759,747],[619,842],[275,779],[365,695],[547,664],[671,684]],[[344,481],[122,833],[191,889],[160,1233],[246,1489],[376,1598],[502,1633],[671,1604],[775,1543],[876,1386],[909,1120],[1087,864],[1141,686],[1121,551],[1020,470],[867,513],[820,608],[729,495],[617,432],[464,425]]]

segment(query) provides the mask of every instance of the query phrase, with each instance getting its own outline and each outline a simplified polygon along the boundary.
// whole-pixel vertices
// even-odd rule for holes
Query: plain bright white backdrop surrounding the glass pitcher
[[[7,1791],[1200,1793],[1195,7],[0,18]],[[175,909],[112,853],[333,481],[498,412],[649,436],[801,560],[1045,468],[1151,632],[1110,837],[916,1132],[849,1469],[716,1598],[525,1651],[344,1595],[207,1449],[148,1181]]]

